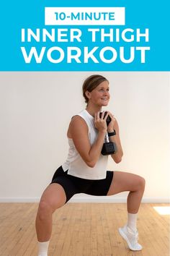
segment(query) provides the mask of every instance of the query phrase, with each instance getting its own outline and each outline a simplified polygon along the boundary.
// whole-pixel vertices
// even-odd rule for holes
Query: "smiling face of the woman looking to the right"
[[[107,81],[101,82],[89,93],[89,101],[98,106],[107,106],[109,103],[109,83]]]

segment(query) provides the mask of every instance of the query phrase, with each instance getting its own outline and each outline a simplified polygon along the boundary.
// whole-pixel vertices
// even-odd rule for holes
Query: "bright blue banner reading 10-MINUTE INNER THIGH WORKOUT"
[[[1,3],[1,71],[169,71],[169,1]]]

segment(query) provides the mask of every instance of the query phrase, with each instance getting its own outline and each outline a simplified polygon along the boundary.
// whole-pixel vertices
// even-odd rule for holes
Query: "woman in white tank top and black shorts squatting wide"
[[[102,116],[102,106],[109,103],[109,82],[102,75],[94,74],[84,81],[83,95],[86,109],[73,116],[68,127],[68,158],[55,171],[51,184],[43,192],[37,210],[36,230],[39,256],[48,255],[52,232],[52,215],[77,193],[89,195],[115,195],[129,191],[128,223],[119,229],[120,235],[132,250],[142,249],[138,244],[137,213],[145,189],[145,180],[135,174],[107,171],[108,155],[102,155],[104,137],[115,142],[115,163],[122,160],[119,126],[115,117],[107,111]],[[111,118],[107,126],[107,116]]]

